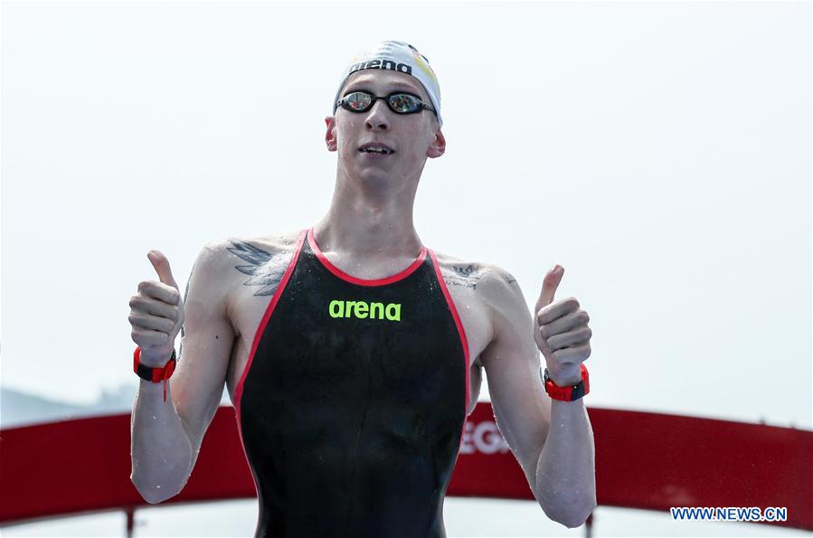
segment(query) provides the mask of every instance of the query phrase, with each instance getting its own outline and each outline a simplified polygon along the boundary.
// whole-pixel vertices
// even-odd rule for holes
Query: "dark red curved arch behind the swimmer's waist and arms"
[[[588,408],[599,505],[787,507],[813,531],[813,432]],[[130,483],[128,414],[0,431],[0,525],[147,505]],[[449,496],[533,499],[483,401],[468,418]],[[162,503],[256,496],[232,407],[221,407],[184,490]]]

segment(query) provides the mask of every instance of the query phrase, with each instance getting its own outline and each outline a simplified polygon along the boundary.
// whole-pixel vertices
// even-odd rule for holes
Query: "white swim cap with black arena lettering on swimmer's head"
[[[440,84],[435,71],[429,65],[426,56],[418,52],[418,49],[409,43],[402,41],[385,41],[374,45],[371,49],[356,54],[353,63],[345,71],[345,76],[339,83],[336,90],[336,98],[333,99],[333,113],[336,114],[338,100],[341,99],[339,93],[345,85],[347,78],[364,69],[388,69],[402,72],[418,79],[423,89],[429,94],[432,101],[432,108],[438,115],[438,125],[443,125],[440,117]]]

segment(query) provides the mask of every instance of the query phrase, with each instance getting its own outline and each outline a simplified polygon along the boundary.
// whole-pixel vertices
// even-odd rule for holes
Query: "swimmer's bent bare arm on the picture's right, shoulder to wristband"
[[[494,325],[482,354],[500,431],[525,472],[544,513],[567,527],[595,507],[592,430],[581,400],[552,401],[539,377],[534,321],[522,291],[492,267],[481,290]]]

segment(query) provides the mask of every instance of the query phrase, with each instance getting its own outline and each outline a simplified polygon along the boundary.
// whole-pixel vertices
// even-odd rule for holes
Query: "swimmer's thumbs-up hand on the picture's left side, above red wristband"
[[[130,297],[132,338],[141,348],[141,363],[163,368],[175,349],[175,336],[184,325],[184,301],[169,269],[169,260],[159,250],[147,252],[160,282],[143,280],[138,294]]]

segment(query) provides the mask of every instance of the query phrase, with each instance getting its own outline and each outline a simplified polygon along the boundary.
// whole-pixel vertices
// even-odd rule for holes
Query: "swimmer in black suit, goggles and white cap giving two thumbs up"
[[[579,301],[554,299],[564,269],[547,272],[532,316],[506,270],[422,243],[415,193],[446,139],[438,79],[414,47],[357,56],[332,106],[336,184],[320,221],[207,243],[183,298],[164,254],[147,254],[159,279],[129,303],[142,377],[133,484],[148,503],[184,488],[225,383],[257,487],[255,536],[445,536],[485,369],[544,514],[583,524],[596,506],[591,329]]]

